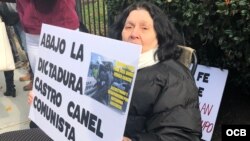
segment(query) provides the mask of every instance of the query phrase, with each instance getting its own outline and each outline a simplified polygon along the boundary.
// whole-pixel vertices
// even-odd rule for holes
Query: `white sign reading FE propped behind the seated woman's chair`
[[[199,107],[202,118],[202,139],[210,141],[221,98],[226,84],[228,70],[198,65],[195,73],[196,85],[199,88]]]

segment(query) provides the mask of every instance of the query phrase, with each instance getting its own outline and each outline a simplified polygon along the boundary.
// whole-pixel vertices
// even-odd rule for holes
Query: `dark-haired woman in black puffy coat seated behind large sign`
[[[142,45],[123,141],[198,141],[198,90],[188,68],[176,59],[177,32],[149,2],[121,13],[112,38]]]

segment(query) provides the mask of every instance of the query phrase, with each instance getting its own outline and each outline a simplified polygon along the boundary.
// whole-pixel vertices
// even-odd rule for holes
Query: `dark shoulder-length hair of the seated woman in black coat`
[[[158,39],[158,49],[156,54],[159,61],[168,59],[178,59],[181,49],[177,47],[180,36],[175,27],[169,21],[167,15],[156,5],[147,2],[139,1],[128,6],[118,17],[116,22],[111,26],[109,37],[121,40],[122,30],[125,25],[126,19],[131,11],[136,9],[145,9],[149,12],[154,22],[154,29]],[[156,55],[155,54],[155,55]]]

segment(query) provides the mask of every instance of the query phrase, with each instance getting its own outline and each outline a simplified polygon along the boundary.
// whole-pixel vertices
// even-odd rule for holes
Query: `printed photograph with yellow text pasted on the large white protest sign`
[[[134,70],[131,65],[91,53],[85,95],[124,113]]]

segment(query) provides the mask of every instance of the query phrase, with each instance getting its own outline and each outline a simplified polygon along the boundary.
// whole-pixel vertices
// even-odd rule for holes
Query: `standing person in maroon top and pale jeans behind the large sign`
[[[75,0],[0,0],[16,2],[20,22],[23,26],[30,66],[35,74],[38,42],[42,23],[68,29],[79,29]]]

